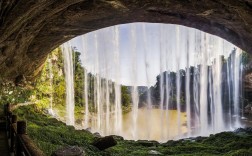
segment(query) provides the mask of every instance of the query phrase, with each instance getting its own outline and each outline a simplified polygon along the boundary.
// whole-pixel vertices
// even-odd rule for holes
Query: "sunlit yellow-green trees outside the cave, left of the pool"
[[[84,110],[85,97],[84,97],[84,87],[88,87],[88,103],[89,111],[94,112],[95,103],[95,85],[97,81],[97,75],[88,73],[87,79],[89,84],[84,84],[85,82],[85,68],[81,64],[80,52],[77,52],[73,48],[72,51],[73,62],[74,62],[74,97],[75,97],[75,115],[76,119],[82,119],[83,114],[81,110]],[[52,105],[57,114],[64,118],[65,116],[65,99],[66,99],[66,87],[64,79],[64,61],[61,52],[61,48],[56,48],[51,54],[49,54],[45,66],[40,73],[40,76],[35,81],[34,90],[32,94],[32,101],[35,102],[41,108],[49,108],[50,100],[52,99]],[[109,85],[112,87],[110,92],[110,103],[114,103],[115,98],[115,84],[111,80],[105,80],[101,78],[101,83],[105,85],[108,81]],[[131,96],[127,90],[127,87],[121,87],[121,100],[123,112],[130,111],[131,106]],[[79,122],[79,121],[78,121]]]

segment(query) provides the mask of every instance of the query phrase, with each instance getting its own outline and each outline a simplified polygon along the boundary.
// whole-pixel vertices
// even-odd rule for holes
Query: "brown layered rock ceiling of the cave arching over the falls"
[[[0,1],[2,78],[33,79],[61,43],[131,22],[172,23],[218,35],[252,53],[252,0]]]

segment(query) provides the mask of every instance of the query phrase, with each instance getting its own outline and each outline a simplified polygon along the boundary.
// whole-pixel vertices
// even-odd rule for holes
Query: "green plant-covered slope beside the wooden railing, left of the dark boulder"
[[[97,148],[91,145],[95,137],[88,131],[75,130],[41,113],[33,106],[21,107],[14,111],[19,120],[28,122],[27,132],[37,146],[46,154],[65,146],[82,147],[87,155],[101,155]]]

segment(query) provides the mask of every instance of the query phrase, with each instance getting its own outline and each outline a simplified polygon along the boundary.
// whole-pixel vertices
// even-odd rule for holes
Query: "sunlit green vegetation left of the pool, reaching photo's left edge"
[[[81,64],[80,52],[73,48],[74,59],[74,97],[75,97],[75,119],[78,124],[83,120],[85,109],[84,87],[88,86],[88,103],[89,111],[94,112],[94,95],[95,83],[97,75],[87,73],[89,84],[84,84],[85,68]],[[66,84],[64,77],[64,61],[61,48],[56,48],[48,55],[44,64],[44,68],[38,75],[37,79],[28,84],[28,87],[16,86],[11,82],[3,82],[0,84],[0,102],[1,103],[32,103],[36,104],[42,110],[47,110],[52,105],[54,111],[61,120],[65,118],[65,99],[66,99]],[[101,78],[102,84],[107,80]],[[110,102],[114,103],[115,88],[114,82],[108,80],[112,86],[110,92]],[[131,109],[130,92],[127,87],[121,86],[121,101],[123,112],[128,112]]]

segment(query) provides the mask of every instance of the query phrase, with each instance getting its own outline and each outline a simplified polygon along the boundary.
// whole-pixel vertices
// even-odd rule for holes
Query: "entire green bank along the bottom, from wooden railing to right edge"
[[[88,156],[146,156],[146,155],[252,155],[252,129],[222,132],[209,137],[196,137],[158,143],[132,141],[114,136],[117,145],[104,151],[92,145],[97,136],[86,130],[75,130],[35,106],[14,110],[20,120],[27,120],[28,135],[45,155],[65,146],[79,146]]]

